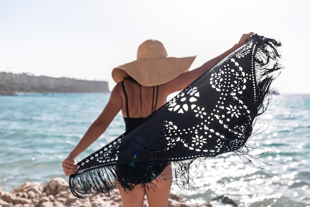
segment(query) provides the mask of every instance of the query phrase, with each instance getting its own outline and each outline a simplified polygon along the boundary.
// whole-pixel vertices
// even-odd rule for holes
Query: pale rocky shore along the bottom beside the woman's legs
[[[144,207],[148,207],[145,202]],[[94,195],[77,199],[62,178],[54,178],[45,186],[40,183],[24,183],[13,189],[12,193],[0,190],[0,207],[122,207],[118,191],[110,196]],[[168,207],[212,207],[208,202],[202,205],[186,203],[180,196],[171,194]]]

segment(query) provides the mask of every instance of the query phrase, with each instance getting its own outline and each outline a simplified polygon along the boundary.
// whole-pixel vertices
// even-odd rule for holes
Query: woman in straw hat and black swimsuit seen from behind
[[[168,58],[160,42],[147,40],[142,43],[136,61],[113,69],[112,76],[117,84],[111,91],[110,99],[101,115],[63,161],[65,175],[72,175],[78,170],[76,156],[103,134],[120,110],[126,130],[131,131],[164,105],[169,94],[187,87],[205,71],[244,45],[252,35],[252,32],[244,34],[231,49],[191,71],[187,70],[195,57]],[[168,165],[162,174],[172,178],[171,166]],[[145,195],[150,207],[166,207],[172,179],[156,179],[154,183],[157,187],[155,191],[149,191],[141,184],[137,184],[130,194],[119,189],[123,207],[143,207]]]

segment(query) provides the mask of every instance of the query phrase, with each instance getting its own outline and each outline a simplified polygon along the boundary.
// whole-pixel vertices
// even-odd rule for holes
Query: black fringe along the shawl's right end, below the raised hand
[[[257,50],[254,57],[257,91],[256,97],[254,97],[255,100],[249,101],[249,103],[255,104],[255,108],[257,108],[257,111],[252,112],[252,117],[255,117],[255,120],[253,120],[253,124],[251,126],[253,128],[258,117],[267,110],[267,107],[271,101],[271,83],[276,77],[279,76],[281,72],[280,69],[283,69],[284,67],[279,62],[281,55],[277,47],[281,46],[280,42],[274,39],[259,36],[257,34],[252,36],[252,40],[257,43]],[[248,138],[250,137],[251,135],[248,136]],[[234,152],[241,158],[243,162],[249,164],[250,166],[262,169],[258,165],[254,164],[254,162],[258,161],[267,164],[259,160],[264,152],[258,156],[253,156],[249,154],[253,150],[253,147],[244,145]]]

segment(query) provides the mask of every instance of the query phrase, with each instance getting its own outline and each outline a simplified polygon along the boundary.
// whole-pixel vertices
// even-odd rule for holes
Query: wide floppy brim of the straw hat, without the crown
[[[196,56],[185,58],[138,59],[112,70],[116,83],[131,76],[144,86],[155,86],[169,82],[189,70]]]

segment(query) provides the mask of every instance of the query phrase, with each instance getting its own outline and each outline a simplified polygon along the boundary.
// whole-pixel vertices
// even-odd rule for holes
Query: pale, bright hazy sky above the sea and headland
[[[191,69],[242,34],[282,43],[280,93],[310,93],[309,0],[0,0],[0,71],[104,80],[147,39]]]

